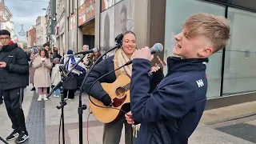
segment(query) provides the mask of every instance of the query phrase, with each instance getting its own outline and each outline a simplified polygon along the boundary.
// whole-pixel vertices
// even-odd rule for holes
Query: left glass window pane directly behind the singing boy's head
[[[182,10],[182,11],[181,11]],[[166,31],[165,31],[165,59],[172,54],[176,41],[174,35],[182,31],[182,25],[191,14],[199,12],[225,15],[225,6],[206,1],[167,0],[166,1]],[[210,57],[207,64],[208,91],[207,97],[220,95],[222,78],[222,50]],[[166,68],[165,68],[166,73]]]

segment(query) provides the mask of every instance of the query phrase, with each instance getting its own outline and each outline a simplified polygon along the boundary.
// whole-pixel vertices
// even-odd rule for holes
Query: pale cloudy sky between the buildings
[[[0,0],[1,1],[1,0]],[[25,36],[18,34],[23,24],[24,30],[29,30],[31,25],[35,25],[38,16],[45,16],[49,0],[5,0],[6,6],[13,14],[14,34],[18,35],[18,40],[24,41]]]

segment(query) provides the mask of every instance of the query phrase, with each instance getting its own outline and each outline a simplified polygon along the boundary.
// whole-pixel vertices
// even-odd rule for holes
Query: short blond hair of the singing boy
[[[214,14],[198,13],[186,19],[183,26],[186,38],[203,35],[214,45],[214,51],[226,47],[230,39],[230,26],[226,18]]]

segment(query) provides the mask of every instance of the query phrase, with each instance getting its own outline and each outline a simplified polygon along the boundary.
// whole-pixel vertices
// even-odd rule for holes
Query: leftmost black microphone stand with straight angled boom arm
[[[74,56],[74,55],[72,55],[72,56]],[[68,78],[72,77],[71,72],[74,70],[74,68],[76,66],[78,66],[78,64],[82,61],[83,58],[85,58],[85,56],[86,55],[83,55],[82,58],[80,58],[78,60],[78,62],[76,62],[76,64],[73,66],[73,68],[67,74],[61,74],[61,76],[62,76],[61,81],[58,82],[58,84],[56,86],[54,86],[54,88],[47,95],[47,98],[50,98],[50,96],[54,93],[54,91],[62,86],[63,82],[65,82]],[[67,62],[69,62],[69,60]],[[66,67],[66,65],[65,65],[65,67]],[[62,71],[62,73],[65,73],[65,67],[64,67],[64,70],[60,70],[60,71]],[[61,114],[61,118],[60,118],[62,122],[60,122],[60,125],[62,125],[62,143],[65,144],[64,106],[66,106],[66,100],[64,99],[64,96],[63,96],[63,88],[60,88],[60,95],[61,95],[60,106],[56,106],[56,107],[58,110],[62,109],[62,114]],[[86,110],[86,105],[84,105],[84,110]],[[59,128],[59,133],[60,133],[60,128]],[[58,141],[60,142],[60,137],[58,137]]]

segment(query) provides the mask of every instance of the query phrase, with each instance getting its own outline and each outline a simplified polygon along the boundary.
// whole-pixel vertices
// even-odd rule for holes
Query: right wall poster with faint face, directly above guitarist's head
[[[134,0],[123,0],[114,6],[114,35],[134,31]]]

